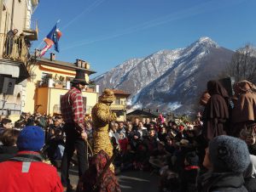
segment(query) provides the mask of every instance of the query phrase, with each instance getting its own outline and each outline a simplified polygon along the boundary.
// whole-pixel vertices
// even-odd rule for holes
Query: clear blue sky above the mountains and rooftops
[[[98,76],[127,59],[183,48],[200,37],[232,50],[255,45],[255,8],[255,0],[43,0],[33,14],[39,25],[33,48],[61,20],[56,59],[84,59]]]

